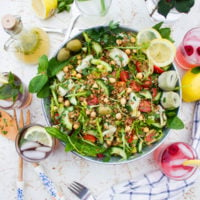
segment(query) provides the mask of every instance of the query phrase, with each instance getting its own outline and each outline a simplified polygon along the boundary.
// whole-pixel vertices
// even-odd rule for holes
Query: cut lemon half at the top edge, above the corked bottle
[[[57,0],[32,0],[32,8],[42,19],[52,16],[57,8]]]

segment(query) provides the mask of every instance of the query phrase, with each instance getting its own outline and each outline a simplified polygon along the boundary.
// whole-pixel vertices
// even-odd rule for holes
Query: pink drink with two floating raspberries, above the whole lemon
[[[177,49],[175,62],[183,69],[200,65],[200,27],[189,30]]]

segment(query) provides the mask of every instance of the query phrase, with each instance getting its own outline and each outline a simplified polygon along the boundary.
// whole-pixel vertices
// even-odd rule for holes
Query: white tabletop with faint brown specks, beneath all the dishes
[[[184,33],[192,27],[200,26],[200,1],[195,1],[195,6],[188,15],[183,15],[176,22],[168,24],[172,28],[172,35],[179,44]],[[67,27],[73,13],[57,14],[49,20],[38,19],[32,9],[30,0],[0,0],[0,18],[7,13],[18,14],[22,17],[25,26],[54,26]],[[103,19],[82,17],[76,24],[77,28],[105,24],[111,19],[119,21],[122,25],[130,26],[137,30],[150,27],[155,24],[148,15],[143,0],[113,0],[110,11]],[[0,27],[0,70],[16,73],[26,84],[36,74],[36,66],[29,66],[20,63],[11,54],[3,50],[3,44],[8,35]],[[50,34],[52,55],[61,44],[63,36]],[[183,73],[181,70],[180,75]],[[185,129],[171,131],[169,141],[188,141],[191,135],[191,120],[193,118],[193,103],[183,103],[180,117],[185,123]],[[41,101],[33,96],[30,106],[32,122],[46,124],[41,110]],[[0,199],[13,200],[16,198],[16,179],[18,168],[18,156],[13,141],[8,141],[0,136]],[[63,146],[59,146],[54,154],[41,165],[48,172],[48,175],[63,190],[67,200],[76,199],[67,186],[74,180],[87,185],[93,193],[98,194],[113,184],[120,183],[127,179],[134,179],[142,173],[146,173],[157,166],[152,161],[152,154],[137,161],[123,165],[99,165],[85,161],[72,153],[65,153]],[[143,166],[143,167],[141,167]],[[200,178],[198,179],[200,181]],[[47,192],[34,173],[29,163],[24,164],[24,182],[26,200],[47,200],[50,199]],[[188,189],[182,199],[198,200],[200,196],[199,183]]]

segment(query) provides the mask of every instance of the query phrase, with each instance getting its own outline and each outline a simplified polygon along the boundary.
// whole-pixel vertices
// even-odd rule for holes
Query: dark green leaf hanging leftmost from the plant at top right
[[[164,17],[167,17],[169,11],[174,7],[175,0],[160,0],[158,2],[158,13],[163,15]]]

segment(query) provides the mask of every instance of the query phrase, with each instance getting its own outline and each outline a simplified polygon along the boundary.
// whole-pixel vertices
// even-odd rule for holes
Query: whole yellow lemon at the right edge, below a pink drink
[[[192,69],[187,71],[181,80],[182,98],[185,102],[200,100],[200,73],[192,73]]]

